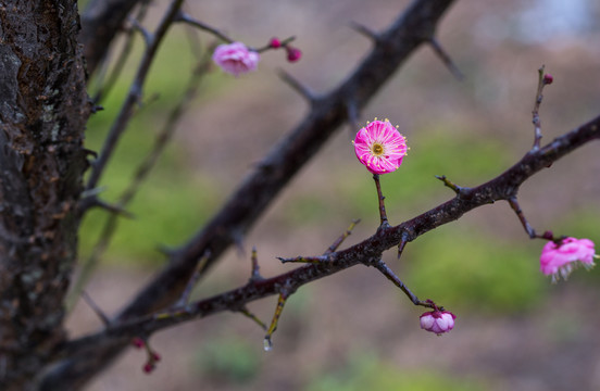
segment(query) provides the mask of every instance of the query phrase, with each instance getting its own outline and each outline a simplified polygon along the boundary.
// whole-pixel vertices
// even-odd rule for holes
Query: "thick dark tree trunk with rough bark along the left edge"
[[[0,1],[0,389],[30,390],[64,339],[87,166],[72,0]]]

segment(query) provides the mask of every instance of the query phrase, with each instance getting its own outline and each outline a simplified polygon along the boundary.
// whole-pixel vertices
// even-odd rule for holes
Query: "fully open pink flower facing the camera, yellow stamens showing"
[[[359,161],[373,174],[395,172],[407,154],[407,139],[386,121],[373,121],[354,139]]]

